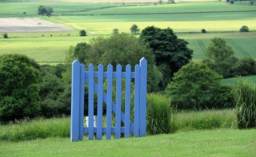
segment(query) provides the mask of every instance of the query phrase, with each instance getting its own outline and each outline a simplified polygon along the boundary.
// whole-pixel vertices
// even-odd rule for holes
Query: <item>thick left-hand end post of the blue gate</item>
[[[79,92],[80,92],[80,63],[72,63],[72,88],[71,88],[71,126],[70,139],[78,141],[79,135]]]

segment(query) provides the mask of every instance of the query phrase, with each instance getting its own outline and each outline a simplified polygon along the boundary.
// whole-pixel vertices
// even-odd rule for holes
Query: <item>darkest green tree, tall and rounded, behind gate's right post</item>
[[[170,28],[146,27],[140,39],[153,49],[156,65],[163,74],[160,88],[166,88],[174,73],[191,60],[193,51],[187,48],[188,42],[179,39]]]

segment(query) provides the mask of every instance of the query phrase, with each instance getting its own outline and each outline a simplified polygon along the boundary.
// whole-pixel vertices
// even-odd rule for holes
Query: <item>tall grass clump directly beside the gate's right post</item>
[[[170,133],[170,99],[160,94],[147,95],[147,133],[150,135]]]

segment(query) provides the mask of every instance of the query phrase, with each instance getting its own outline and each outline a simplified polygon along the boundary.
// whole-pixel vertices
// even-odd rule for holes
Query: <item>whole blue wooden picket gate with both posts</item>
[[[113,66],[108,65],[107,71],[103,71],[103,65],[98,65],[98,71],[94,72],[94,65],[90,64],[88,71],[85,65],[78,61],[72,63],[72,91],[71,91],[71,141],[83,139],[84,134],[88,134],[89,139],[102,139],[106,134],[106,139],[120,138],[124,134],[126,138],[133,134],[134,137],[146,135],[146,82],[147,82],[147,61],[140,60],[139,65],[135,65],[134,72],[131,66],[126,65],[126,72],[122,72],[122,65],[117,65],[116,72]],[[95,79],[97,78],[97,79]],[[106,93],[103,91],[104,78],[107,81]],[[113,81],[116,81],[115,103],[112,100]],[[125,104],[122,104],[122,79],[125,79]],[[134,123],[130,120],[130,82],[134,79]],[[98,80],[98,84],[94,82]],[[88,126],[84,126],[84,84],[88,84]],[[97,93],[97,125],[94,126],[94,92]],[[102,126],[103,102],[106,103],[106,127]],[[125,106],[125,112],[121,110]],[[115,126],[112,126],[112,112],[115,114]],[[121,124],[124,124],[122,127]]]

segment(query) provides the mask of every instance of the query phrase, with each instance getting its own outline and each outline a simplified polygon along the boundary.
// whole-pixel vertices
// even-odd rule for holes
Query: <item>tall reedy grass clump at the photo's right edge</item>
[[[234,88],[238,128],[256,128],[256,85],[239,79]]]

